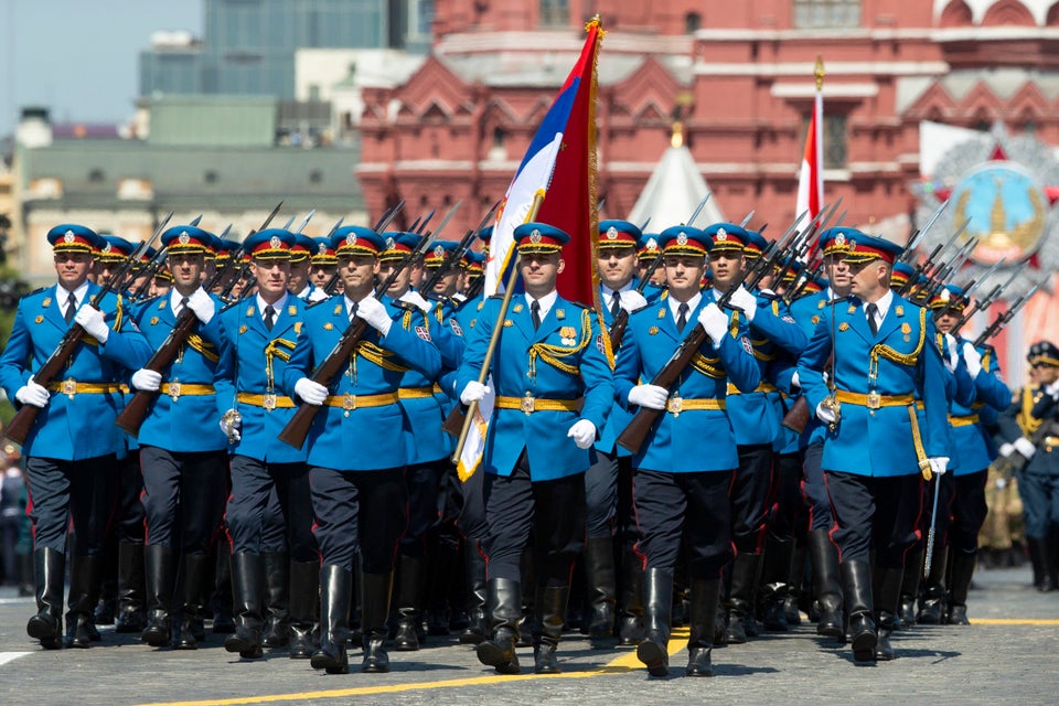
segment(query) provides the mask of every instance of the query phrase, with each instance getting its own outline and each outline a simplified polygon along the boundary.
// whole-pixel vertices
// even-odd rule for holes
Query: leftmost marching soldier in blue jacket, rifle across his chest
[[[33,498],[30,518],[38,607],[26,632],[44,649],[56,650],[63,646],[71,518],[77,541],[71,558],[68,645],[90,646],[103,541],[115,493],[119,381],[126,371],[147,362],[151,347],[130,323],[120,296],[107,293],[88,306],[89,298],[100,291],[88,282],[92,250],[100,246],[99,236],[85,226],[58,225],[49,231],[47,240],[58,281],[19,302],[8,345],[0,354],[0,385],[17,407],[41,409],[23,445]],[[64,371],[65,379],[44,387],[34,382],[34,373],[72,323],[81,324],[85,333]]]

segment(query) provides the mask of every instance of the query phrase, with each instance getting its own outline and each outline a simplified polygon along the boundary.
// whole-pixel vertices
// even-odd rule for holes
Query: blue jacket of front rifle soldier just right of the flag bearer
[[[704,291],[688,323],[698,325],[698,313],[712,301],[713,291]],[[639,407],[628,404],[629,391],[652,381],[688,333],[689,329],[683,333],[676,330],[673,313],[664,301],[629,317],[614,367],[614,386],[619,402],[630,411],[638,411]],[[698,353],[700,357],[685,368],[680,383],[671,389],[671,398],[725,399],[729,381],[744,391],[751,391],[761,382],[745,324],[734,333],[729,331],[719,349],[715,350],[707,339]],[[689,409],[680,415],[659,415],[632,464],[667,473],[737,468],[736,437],[728,414],[723,409]]]

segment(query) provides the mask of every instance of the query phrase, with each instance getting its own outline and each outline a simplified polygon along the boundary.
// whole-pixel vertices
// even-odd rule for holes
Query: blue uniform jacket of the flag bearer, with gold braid
[[[456,376],[457,391],[478,379],[500,306],[500,297],[486,299],[474,325],[464,330],[467,350]],[[494,409],[482,459],[488,473],[511,475],[523,449],[534,481],[584,473],[591,466],[595,453],[577,448],[566,435],[578,419],[602,429],[613,403],[613,373],[593,319],[588,309],[557,297],[534,331],[525,296],[513,296],[491,365],[493,391],[515,398],[584,397],[584,403],[580,413]]]

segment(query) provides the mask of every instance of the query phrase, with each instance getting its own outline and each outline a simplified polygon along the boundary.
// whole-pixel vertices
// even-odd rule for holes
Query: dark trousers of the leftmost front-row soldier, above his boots
[[[73,520],[77,535],[74,554],[94,556],[103,552],[117,492],[113,453],[81,461],[30,457],[25,460],[25,482],[34,548],[65,554],[66,531]]]

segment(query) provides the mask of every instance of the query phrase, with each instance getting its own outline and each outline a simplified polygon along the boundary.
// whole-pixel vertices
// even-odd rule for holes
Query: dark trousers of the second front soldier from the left
[[[224,517],[224,451],[169,451],[140,447],[147,544],[182,554],[210,552]]]

